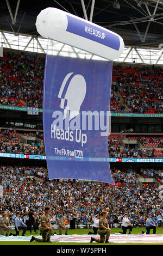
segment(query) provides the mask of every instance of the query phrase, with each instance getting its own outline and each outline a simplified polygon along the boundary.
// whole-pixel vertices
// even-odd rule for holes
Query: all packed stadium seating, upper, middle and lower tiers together
[[[45,59],[27,52],[7,52],[0,59],[0,104],[42,108],[43,72]],[[110,111],[115,113],[162,113],[163,71],[161,68],[133,68],[114,65],[112,71]],[[115,132],[108,137],[109,157],[163,157],[163,139],[159,134]],[[134,142],[133,142],[134,141]],[[43,132],[3,126],[0,131],[0,152],[45,155]],[[4,211],[21,211],[24,221],[33,209],[40,216],[45,205],[51,206],[56,222],[59,214],[76,214],[79,222],[90,222],[102,209],[109,212],[110,223],[122,221],[124,212],[142,224],[149,211],[162,215],[162,200],[156,183],[139,178],[153,178],[163,184],[160,167],[111,169],[115,185],[80,180],[49,180],[45,167],[24,164],[1,164],[0,218]],[[35,179],[33,179],[35,178]],[[157,206],[155,206],[157,205]],[[114,210],[112,210],[114,209]]]

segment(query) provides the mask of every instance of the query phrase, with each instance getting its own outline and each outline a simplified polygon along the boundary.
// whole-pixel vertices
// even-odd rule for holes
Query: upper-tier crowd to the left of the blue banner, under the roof
[[[8,52],[0,60],[0,103],[42,108],[45,59]]]

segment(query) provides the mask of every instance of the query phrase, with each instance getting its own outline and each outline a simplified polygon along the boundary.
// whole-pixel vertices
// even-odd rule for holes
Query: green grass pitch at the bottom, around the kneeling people
[[[131,232],[131,234],[141,234],[141,231],[146,231],[146,229],[145,228],[133,228],[133,231]],[[93,231],[92,229],[74,229],[74,230],[69,230],[68,231],[68,234],[70,234],[70,235],[72,235],[72,234],[77,234],[77,235],[83,235],[83,234],[88,234],[88,232],[89,231]],[[111,234],[115,234],[115,233],[119,233],[119,231],[122,231],[122,229],[119,229],[119,228],[112,228],[111,229]],[[20,235],[21,235],[21,232],[22,231],[20,231]],[[26,231],[26,235],[27,236],[31,236],[31,235],[34,235],[34,236],[36,236],[36,235],[40,235],[40,231],[39,230],[37,230],[37,232],[38,232],[38,234],[35,234],[34,233],[34,231],[33,231],[33,234],[30,234],[30,232],[27,230]],[[14,233],[14,232],[13,232]],[[63,232],[63,234],[64,234],[64,232]],[[152,230],[151,230],[151,234],[152,234]],[[161,227],[161,228],[156,228],[156,234],[163,234],[163,228]],[[8,246],[8,245],[25,245],[25,246],[28,246],[28,245],[30,245],[30,246],[35,246],[35,245],[48,245],[48,246],[53,246],[53,245],[73,245],[73,246],[75,246],[75,245],[80,245],[80,246],[82,246],[82,245],[91,245],[91,246],[97,246],[97,245],[156,245],[155,243],[154,244],[152,244],[152,243],[109,243],[109,244],[106,244],[106,243],[95,243],[95,242],[93,242],[93,243],[74,243],[74,242],[72,242],[72,243],[58,243],[58,242],[53,242],[53,243],[40,243],[40,242],[36,242],[36,241],[33,241],[33,242],[29,242],[29,241],[14,241],[14,242],[5,242],[5,241],[0,241],[0,246],[1,245],[5,245],[5,246]],[[157,245],[162,245],[161,243],[159,243],[159,244],[157,244]]]

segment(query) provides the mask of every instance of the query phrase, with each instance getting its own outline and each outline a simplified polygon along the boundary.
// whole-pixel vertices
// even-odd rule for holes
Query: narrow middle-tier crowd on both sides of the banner
[[[26,142],[23,142],[23,138]],[[33,141],[30,141],[33,137]],[[162,137],[148,137],[153,144],[147,144],[147,137],[136,136],[137,142],[141,143],[145,148],[127,148],[124,147],[123,139],[126,139],[124,134],[110,134],[108,137],[109,157],[163,157]],[[127,138],[132,139],[132,138]],[[151,148],[148,147],[151,146]],[[160,148],[160,149],[158,149]],[[3,153],[17,153],[17,154],[36,154],[45,155],[45,148],[43,143],[43,132],[23,131],[22,133],[11,129],[4,129],[0,131],[0,151]]]

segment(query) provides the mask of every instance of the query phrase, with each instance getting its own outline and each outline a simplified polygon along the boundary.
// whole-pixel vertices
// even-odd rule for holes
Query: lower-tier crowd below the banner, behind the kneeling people
[[[153,173],[160,184],[163,181],[162,169],[142,169],[140,174],[145,175],[145,172],[146,175]],[[145,221],[148,212],[152,212],[155,218],[163,217],[159,188],[153,184],[139,187],[139,173],[131,168],[115,169],[112,176],[115,185],[70,179],[49,180],[47,168],[2,165],[0,185],[3,185],[4,194],[0,198],[0,215],[7,212],[10,222],[14,223],[16,212],[20,211],[27,221],[32,209],[39,220],[43,209],[48,206],[54,223],[60,214],[68,220],[75,215],[78,222],[92,222],[102,210],[109,212],[110,223],[121,222],[125,212],[129,212],[131,220],[137,224]]]

